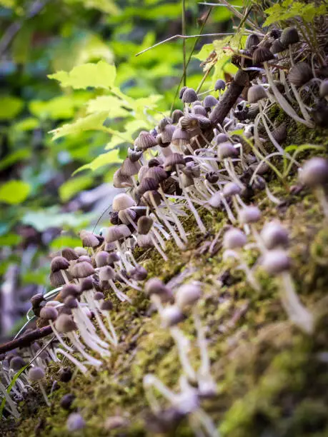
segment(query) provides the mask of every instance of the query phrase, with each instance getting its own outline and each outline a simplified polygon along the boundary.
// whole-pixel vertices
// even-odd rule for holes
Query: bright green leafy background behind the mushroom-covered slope
[[[189,35],[199,34],[207,11],[187,1]],[[139,131],[169,114],[182,77],[182,40],[135,54],[181,34],[181,14],[177,1],[0,0],[0,274],[18,263],[22,285],[47,286],[49,248],[77,245],[81,227],[99,218],[76,199],[110,182]],[[203,33],[234,25],[226,8],[215,7]],[[187,54],[195,41],[187,40]],[[212,51],[212,44],[202,49],[209,41],[197,42],[188,86],[202,80],[199,60]],[[235,71],[231,54],[219,59],[204,89]]]

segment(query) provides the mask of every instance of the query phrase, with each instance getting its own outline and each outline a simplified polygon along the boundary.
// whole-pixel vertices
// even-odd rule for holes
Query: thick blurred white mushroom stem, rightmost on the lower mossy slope
[[[280,296],[284,310],[295,325],[305,333],[311,334],[314,329],[313,315],[302,305],[301,301],[299,301],[290,273],[288,271],[282,272],[279,277],[282,283]]]

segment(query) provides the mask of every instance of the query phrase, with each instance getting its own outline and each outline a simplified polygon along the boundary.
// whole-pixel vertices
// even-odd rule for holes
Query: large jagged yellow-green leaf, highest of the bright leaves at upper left
[[[74,89],[93,88],[111,89],[114,85],[116,69],[114,65],[99,61],[97,64],[84,64],[74,67],[69,73],[58,71],[50,74],[49,79],[56,79],[61,86],[72,86]]]

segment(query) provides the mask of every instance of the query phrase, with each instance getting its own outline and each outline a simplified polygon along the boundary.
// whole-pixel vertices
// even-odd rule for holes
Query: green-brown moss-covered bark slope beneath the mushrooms
[[[309,131],[290,124],[288,132],[287,144],[327,146],[327,131],[322,129]],[[287,179],[289,186],[296,183],[295,174]],[[256,268],[262,288],[257,293],[245,281],[244,273],[222,260],[222,234],[209,253],[210,243],[227,225],[222,212],[211,215],[202,211],[209,230],[206,236],[199,233],[194,219],[188,218],[184,226],[189,246],[181,252],[169,243],[169,261],[164,262],[154,250],[139,249],[136,256],[149,277],[158,276],[174,285],[191,279],[203,284],[200,313],[207,327],[218,393],[202,406],[214,418],[222,436],[327,436],[328,227],[311,193],[290,194],[275,176],[269,188],[283,202],[274,205],[265,192],[257,192],[254,201],[263,213],[258,228],[270,218],[279,218],[288,228],[297,293],[317,319],[313,336],[299,332],[287,320],[273,278]],[[247,251],[250,264],[258,263],[258,256],[256,249]],[[51,408],[44,406],[41,396],[31,396],[22,406],[21,421],[3,423],[1,435],[68,436],[69,412],[59,406],[65,393],[74,393],[74,408],[86,419],[81,436],[109,435],[106,420],[110,416],[126,419],[125,426],[110,431],[113,436],[152,436],[155,428],[163,426],[149,419],[142,378],[154,373],[170,388],[177,388],[181,374],[177,348],[169,332],[160,327],[148,298],[136,291],[129,291],[129,296],[134,299],[133,307],[114,301],[113,319],[121,343],[111,358],[104,360],[101,370],[59,383],[59,389],[51,395]],[[181,327],[193,341],[192,321],[187,319]],[[197,348],[191,354],[197,362]],[[49,368],[48,391],[58,369],[55,363]],[[186,420],[169,433],[193,435]]]

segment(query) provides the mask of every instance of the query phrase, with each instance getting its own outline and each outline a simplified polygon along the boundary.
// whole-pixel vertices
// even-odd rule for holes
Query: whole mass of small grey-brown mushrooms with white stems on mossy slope
[[[213,215],[217,210],[227,215],[222,256],[233,259],[244,271],[254,293],[261,293],[254,273],[256,268],[264,268],[279,281],[289,320],[307,335],[313,332],[314,316],[299,300],[290,274],[288,230],[279,221],[264,223],[261,228],[262,214],[253,201],[254,194],[265,191],[273,207],[279,204],[267,181],[279,174],[279,163],[285,159],[289,170],[298,172],[299,184],[314,191],[328,218],[327,160],[315,157],[300,164],[283,147],[291,119],[309,128],[327,123],[322,116],[327,114],[327,67],[322,59],[304,54],[304,41],[293,27],[274,29],[265,36],[249,34],[245,49],[232,59],[240,67],[234,82],[244,86],[244,91],[222,124],[213,124],[211,116],[231,84],[220,79],[216,96],[197,95],[184,86],[180,91],[183,110],[164,117],[153,130],[140,132],[114,174],[114,186],[125,191],[120,190],[114,198],[110,225],[99,234],[81,231],[81,247],[64,248],[51,261],[50,283],[55,289],[51,299],[41,294],[31,299],[39,326],[52,328],[51,343],[46,348],[32,343],[24,350],[7,353],[2,361],[0,389],[6,398],[7,417],[19,417],[17,403],[36,389],[35,382],[49,405],[42,381],[50,361],[70,361],[71,367],[61,371],[61,381],[69,381],[75,371],[87,373],[91,367],[101,367],[120,341],[111,321],[109,297],[133,305],[132,288],[149,296],[161,326],[174,338],[182,367],[179,393],[154,375],[144,376],[151,409],[161,411],[156,389],[177,416],[188,416],[196,435],[218,436],[212,419],[200,406],[202,398],[215,396],[217,391],[197,309],[202,284],[190,282],[172,290],[159,278],[148,278],[134,257],[136,247],[153,248],[167,261],[167,241],[184,251],[189,244],[185,219],[190,216],[196,224],[194,231],[206,238],[204,209]],[[277,104],[286,114],[286,121],[279,126],[269,117],[269,110]],[[255,267],[247,262],[245,248],[250,246],[259,252]],[[189,358],[189,339],[179,327],[189,316],[201,357],[197,369]],[[29,363],[8,393],[6,387],[16,372]],[[61,406],[69,410],[73,400],[68,394]],[[81,415],[71,413],[68,429],[84,426]]]

